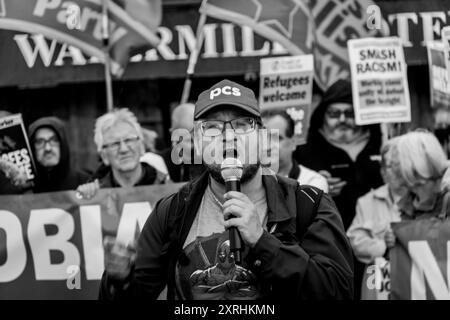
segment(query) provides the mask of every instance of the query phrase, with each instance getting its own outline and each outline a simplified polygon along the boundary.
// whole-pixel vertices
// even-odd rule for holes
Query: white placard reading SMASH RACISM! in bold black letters
[[[347,45],[356,124],[410,122],[411,103],[401,39],[352,39]]]

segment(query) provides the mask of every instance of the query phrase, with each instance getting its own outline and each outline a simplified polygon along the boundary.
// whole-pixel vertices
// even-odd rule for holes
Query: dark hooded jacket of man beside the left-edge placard
[[[75,170],[70,163],[70,151],[64,123],[56,117],[44,117],[36,120],[28,127],[28,137],[33,143],[34,135],[39,128],[50,128],[56,132],[60,141],[60,159],[58,165],[51,170],[42,167],[38,161],[36,163],[36,180],[33,192],[53,192],[62,190],[75,190],[80,184],[88,180],[88,175]],[[36,153],[34,146],[31,146],[34,159]]]

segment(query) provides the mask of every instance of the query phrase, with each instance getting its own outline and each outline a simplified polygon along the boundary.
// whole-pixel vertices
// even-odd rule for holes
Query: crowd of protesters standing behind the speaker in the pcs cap
[[[175,108],[170,131],[193,133],[195,109],[191,103]],[[278,175],[323,190],[334,200],[353,249],[354,298],[360,297],[368,265],[388,257],[395,244],[392,222],[446,215],[449,164],[436,135],[415,130],[383,142],[380,125],[356,125],[349,81],[339,80],[324,92],[304,145],[296,145],[295,124],[286,112],[263,112],[261,119],[265,128],[279,133]],[[158,151],[155,134],[128,109],[99,117],[93,132],[101,163],[87,175],[70,165],[61,119],[44,117],[30,124],[37,170],[32,192],[76,190],[91,198],[100,188],[187,182],[204,172],[203,165],[192,162],[193,141],[174,139],[170,148]],[[177,155],[190,161],[174,163],[179,144],[188,147],[177,150],[191,151]],[[14,165],[0,161],[0,193],[23,193],[22,183]]]

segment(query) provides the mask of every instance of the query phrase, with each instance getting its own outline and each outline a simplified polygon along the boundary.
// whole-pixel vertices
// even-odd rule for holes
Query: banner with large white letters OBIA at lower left
[[[181,185],[0,196],[0,299],[96,299],[104,237],[134,241]]]

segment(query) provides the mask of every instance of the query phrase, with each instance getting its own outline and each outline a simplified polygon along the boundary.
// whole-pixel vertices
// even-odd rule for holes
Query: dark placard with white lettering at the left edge
[[[36,169],[20,114],[0,118],[0,157],[15,164],[24,173],[28,184],[32,184]]]

